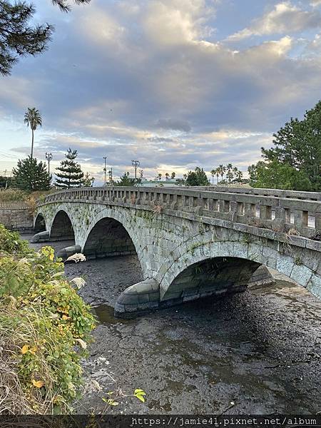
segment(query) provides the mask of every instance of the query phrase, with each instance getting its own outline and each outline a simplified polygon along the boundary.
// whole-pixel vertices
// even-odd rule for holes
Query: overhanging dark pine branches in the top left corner
[[[70,11],[66,0],[51,0],[61,11]],[[89,3],[90,0],[74,0],[75,4]],[[32,26],[36,13],[32,4],[0,0],[0,73],[6,76],[18,61],[19,56],[41,54],[48,47],[54,26],[49,24]]]

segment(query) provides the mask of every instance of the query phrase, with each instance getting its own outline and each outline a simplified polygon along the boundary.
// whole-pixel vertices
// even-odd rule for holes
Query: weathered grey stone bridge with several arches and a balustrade
[[[321,193],[251,188],[78,188],[39,202],[34,240],[74,239],[61,255],[136,253],[143,282],[118,316],[245,290],[266,265],[321,297]]]

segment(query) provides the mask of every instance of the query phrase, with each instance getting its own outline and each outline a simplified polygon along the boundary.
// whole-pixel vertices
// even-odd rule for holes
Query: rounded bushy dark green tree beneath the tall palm
[[[38,162],[36,158],[19,159],[16,168],[12,170],[14,185],[21,190],[49,190],[51,176],[48,175],[46,163]]]

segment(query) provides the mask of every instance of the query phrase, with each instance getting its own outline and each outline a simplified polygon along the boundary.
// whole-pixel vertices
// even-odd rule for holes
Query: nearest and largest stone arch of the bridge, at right
[[[311,266],[305,265],[305,260],[298,260],[296,254],[281,253],[275,248],[275,243],[247,243],[245,240],[242,242],[242,236],[239,238],[235,241],[213,241],[213,235],[208,234],[180,245],[172,262],[165,262],[156,275],[161,301],[177,299],[182,293],[186,296],[193,295],[193,292],[200,294],[200,290],[204,295],[206,292],[210,294],[211,287],[212,294],[213,290],[243,291],[260,265],[272,267],[308,290],[311,288],[312,292],[315,283],[320,282]],[[213,264],[216,267],[211,270]],[[206,275],[208,287],[205,286]]]

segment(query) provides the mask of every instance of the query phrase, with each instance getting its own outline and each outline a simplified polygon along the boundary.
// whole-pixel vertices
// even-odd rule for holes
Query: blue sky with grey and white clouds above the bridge
[[[291,116],[321,98],[321,0],[91,0],[62,14],[45,54],[0,78],[0,170],[30,151],[27,107],[39,108],[35,154],[68,147],[100,183],[141,161],[144,175],[220,163],[247,170]]]

